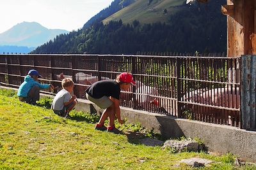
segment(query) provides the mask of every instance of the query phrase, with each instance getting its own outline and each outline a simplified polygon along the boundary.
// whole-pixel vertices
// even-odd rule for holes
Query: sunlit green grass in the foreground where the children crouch
[[[133,132],[143,130],[140,124],[118,125],[131,132],[125,134],[95,131],[88,122],[95,122],[96,115],[74,111],[71,120],[61,118],[47,108],[21,103],[15,93],[3,90],[0,113],[0,169],[189,169],[175,164],[190,157],[216,161],[205,169],[238,168],[231,154],[173,154],[140,145],[132,137]]]

